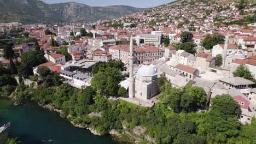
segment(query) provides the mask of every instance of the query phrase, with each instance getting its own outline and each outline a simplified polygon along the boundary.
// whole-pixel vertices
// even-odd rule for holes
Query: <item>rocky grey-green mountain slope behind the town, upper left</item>
[[[124,5],[90,7],[74,2],[46,4],[37,0],[0,0],[0,22],[94,22],[142,10]]]

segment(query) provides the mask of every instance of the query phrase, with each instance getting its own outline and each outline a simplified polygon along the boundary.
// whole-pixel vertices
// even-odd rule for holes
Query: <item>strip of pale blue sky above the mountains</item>
[[[131,5],[137,8],[149,8],[158,5],[170,3],[174,0],[42,0],[46,3],[64,3],[78,2],[90,6],[107,6],[107,5]]]

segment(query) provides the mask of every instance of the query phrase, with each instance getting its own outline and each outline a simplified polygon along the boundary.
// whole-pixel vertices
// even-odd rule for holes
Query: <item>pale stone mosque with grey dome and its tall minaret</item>
[[[129,55],[129,98],[147,101],[158,94],[158,73],[153,67],[143,65],[133,75],[133,40],[130,41]]]

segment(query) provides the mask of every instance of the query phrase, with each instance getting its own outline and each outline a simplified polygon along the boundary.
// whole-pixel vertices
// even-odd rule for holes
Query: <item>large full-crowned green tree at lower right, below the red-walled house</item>
[[[230,95],[217,95],[211,99],[210,112],[200,122],[198,133],[205,135],[207,143],[227,143],[239,134],[240,114],[240,106]]]

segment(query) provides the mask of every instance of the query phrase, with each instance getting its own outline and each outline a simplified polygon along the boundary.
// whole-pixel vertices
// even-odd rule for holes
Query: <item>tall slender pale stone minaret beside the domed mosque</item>
[[[131,36],[131,41],[130,41],[130,55],[129,55],[129,98],[134,97],[134,77],[133,77],[133,41],[132,41],[132,36]]]

